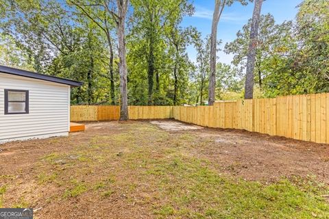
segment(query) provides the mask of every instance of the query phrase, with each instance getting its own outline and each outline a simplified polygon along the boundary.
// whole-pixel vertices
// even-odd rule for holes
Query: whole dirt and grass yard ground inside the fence
[[[329,218],[329,146],[173,120],[0,144],[0,207],[35,218]]]

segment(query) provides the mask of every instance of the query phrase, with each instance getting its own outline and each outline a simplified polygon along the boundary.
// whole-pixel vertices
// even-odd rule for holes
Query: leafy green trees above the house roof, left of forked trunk
[[[97,26],[58,1],[8,2],[0,34],[9,34],[17,51],[27,53],[31,70],[84,81],[73,89],[72,103],[108,103],[104,100],[109,81],[103,76],[108,53]]]

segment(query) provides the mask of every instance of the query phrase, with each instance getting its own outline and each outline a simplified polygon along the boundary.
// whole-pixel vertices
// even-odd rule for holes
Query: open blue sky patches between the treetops
[[[261,13],[272,14],[276,23],[293,20],[297,14],[296,6],[301,2],[302,0],[266,0],[263,2]],[[195,14],[184,17],[182,26],[188,27],[192,25],[197,27],[203,37],[210,34],[214,4],[215,0],[194,0]],[[223,40],[220,49],[223,49],[226,42],[231,42],[236,38],[236,32],[242,29],[249,18],[252,18],[253,10],[254,3],[243,6],[241,3],[236,2],[230,7],[224,8],[217,29],[217,39]],[[190,59],[195,62],[197,55],[195,49],[190,46],[187,52]],[[228,55],[223,51],[219,51],[217,55],[219,56],[219,62],[230,64],[232,61],[232,54]]]

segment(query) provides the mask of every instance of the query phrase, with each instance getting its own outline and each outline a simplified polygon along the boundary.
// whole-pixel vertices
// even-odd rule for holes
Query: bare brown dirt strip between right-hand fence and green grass
[[[329,145],[250,133],[204,129],[197,136],[211,140],[197,153],[219,164],[223,172],[248,180],[315,177],[329,183]]]

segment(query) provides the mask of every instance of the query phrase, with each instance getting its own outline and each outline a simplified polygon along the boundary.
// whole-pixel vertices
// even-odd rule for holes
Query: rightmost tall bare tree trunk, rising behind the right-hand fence
[[[250,29],[249,49],[247,53],[247,70],[245,76],[245,99],[252,99],[254,96],[254,69],[256,59],[258,25],[262,4],[263,0],[255,0],[254,12],[252,13],[252,27]]]

